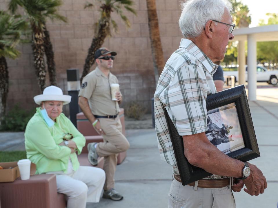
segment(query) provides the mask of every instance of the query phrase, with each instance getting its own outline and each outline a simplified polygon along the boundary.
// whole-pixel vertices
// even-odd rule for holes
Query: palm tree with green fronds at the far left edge
[[[20,15],[10,15],[0,11],[0,118],[6,112],[9,91],[9,72],[6,58],[16,59],[20,52],[16,46],[26,42],[21,36],[28,28],[28,23]]]

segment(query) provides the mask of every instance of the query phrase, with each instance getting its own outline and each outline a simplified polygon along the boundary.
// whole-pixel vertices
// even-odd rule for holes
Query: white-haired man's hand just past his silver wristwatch
[[[247,179],[243,180],[244,185],[246,186],[244,191],[251,196],[258,196],[259,194],[264,193],[264,189],[267,187],[266,177],[264,177],[263,173],[257,168],[257,166],[250,163],[248,164],[251,173]]]

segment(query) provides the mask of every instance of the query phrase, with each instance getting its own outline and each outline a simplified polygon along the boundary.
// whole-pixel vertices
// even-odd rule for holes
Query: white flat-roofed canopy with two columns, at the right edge
[[[244,27],[233,31],[238,40],[239,84],[245,83],[245,41],[248,45],[248,99],[255,101],[257,89],[257,42],[278,41],[278,25],[265,25],[260,27]]]

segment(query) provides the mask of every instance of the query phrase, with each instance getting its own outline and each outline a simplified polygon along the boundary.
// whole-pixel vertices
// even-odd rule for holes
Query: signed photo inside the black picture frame
[[[223,153],[244,148],[235,103],[208,111],[208,140]]]

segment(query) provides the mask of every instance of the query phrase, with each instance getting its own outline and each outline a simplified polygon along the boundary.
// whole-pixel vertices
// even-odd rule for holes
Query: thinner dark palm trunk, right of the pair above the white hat
[[[44,35],[45,35],[45,37],[43,38],[43,46],[44,46],[44,51],[46,54],[49,81],[50,81],[51,85],[57,86],[54,52],[53,52],[52,43],[50,41],[49,32],[47,29],[44,31]]]

